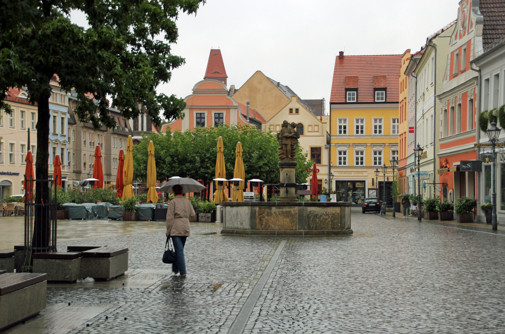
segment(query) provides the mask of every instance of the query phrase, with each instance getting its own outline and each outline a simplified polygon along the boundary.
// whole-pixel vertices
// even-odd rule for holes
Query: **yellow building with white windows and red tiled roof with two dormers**
[[[402,55],[345,56],[335,60],[330,98],[331,189],[337,200],[361,205],[367,197],[392,204],[398,159],[398,83]],[[383,165],[388,167],[382,173]],[[380,176],[376,180],[374,171]],[[395,171],[397,175],[397,171]],[[385,179],[385,184],[384,184]],[[377,182],[378,181],[378,182]],[[378,190],[378,194],[377,194]]]

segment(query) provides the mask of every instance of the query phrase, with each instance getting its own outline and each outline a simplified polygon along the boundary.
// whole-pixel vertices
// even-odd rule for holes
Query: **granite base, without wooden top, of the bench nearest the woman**
[[[79,276],[105,280],[120,276],[128,270],[128,253],[113,257],[83,257]]]

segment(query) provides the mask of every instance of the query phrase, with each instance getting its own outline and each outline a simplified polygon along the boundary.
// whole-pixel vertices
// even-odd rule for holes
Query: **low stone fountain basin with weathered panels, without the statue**
[[[222,234],[349,235],[350,202],[224,202]]]

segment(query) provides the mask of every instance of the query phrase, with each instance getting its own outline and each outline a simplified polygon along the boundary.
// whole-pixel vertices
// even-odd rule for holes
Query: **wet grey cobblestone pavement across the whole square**
[[[504,235],[361,212],[351,219],[354,236],[284,238],[244,333],[505,332]],[[161,262],[163,223],[157,232],[86,240],[129,247],[127,275],[49,284],[44,313],[6,332],[48,332],[51,321],[67,321],[74,325],[51,332],[227,333],[283,238],[191,228],[187,278]],[[67,244],[77,243],[59,248]]]

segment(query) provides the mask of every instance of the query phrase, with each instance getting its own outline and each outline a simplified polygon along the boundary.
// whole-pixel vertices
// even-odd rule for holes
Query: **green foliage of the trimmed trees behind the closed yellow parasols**
[[[158,180],[181,176],[210,181],[215,178],[217,142],[220,136],[223,137],[226,178],[233,178],[235,149],[240,141],[245,179],[259,178],[265,183],[279,182],[279,142],[271,132],[259,131],[247,124],[197,127],[173,133],[168,130],[167,134],[153,132],[144,136],[140,144],[133,148],[133,177],[140,180],[146,178],[147,148],[149,140],[153,140]],[[311,167],[311,162],[307,161],[307,157],[308,153],[302,152],[298,147],[296,180],[299,183],[306,182],[309,175],[306,170]]]

